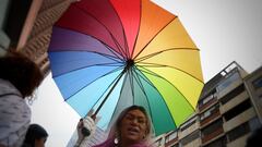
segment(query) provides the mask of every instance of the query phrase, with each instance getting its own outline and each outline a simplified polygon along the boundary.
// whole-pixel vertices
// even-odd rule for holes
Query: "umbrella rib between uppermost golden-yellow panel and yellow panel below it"
[[[186,48],[186,47],[169,48],[169,49],[164,49],[164,50],[162,50],[162,51],[147,54],[147,56],[145,56],[145,57],[138,58],[138,59],[135,59],[135,61],[136,61],[136,62],[141,62],[141,61],[143,61],[143,60],[146,60],[146,59],[150,59],[150,58],[152,58],[152,57],[158,56],[158,54],[160,54],[160,53],[163,53],[163,52],[172,51],[172,50],[192,50],[192,51],[200,51],[200,49],[198,49],[198,48]]]

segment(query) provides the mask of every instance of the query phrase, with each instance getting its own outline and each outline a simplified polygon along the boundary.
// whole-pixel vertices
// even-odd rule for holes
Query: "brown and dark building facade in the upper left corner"
[[[47,75],[47,49],[52,26],[75,0],[1,0],[0,54],[15,49],[35,61]]]

